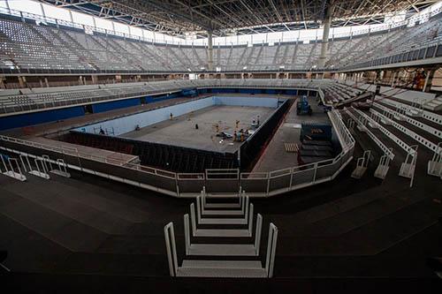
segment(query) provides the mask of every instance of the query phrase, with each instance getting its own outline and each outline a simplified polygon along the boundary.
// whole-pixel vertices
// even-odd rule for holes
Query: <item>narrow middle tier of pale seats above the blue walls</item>
[[[183,88],[298,88],[316,91],[317,85],[328,82],[330,81],[325,79],[176,79],[149,83],[8,90],[0,92],[0,116],[149,94],[171,94]]]

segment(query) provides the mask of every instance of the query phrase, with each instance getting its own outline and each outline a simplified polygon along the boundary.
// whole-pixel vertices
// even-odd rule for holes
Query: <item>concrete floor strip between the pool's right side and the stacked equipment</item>
[[[313,109],[313,115],[298,116],[296,114],[296,102],[286,115],[285,121],[271,139],[261,158],[256,162],[254,172],[282,170],[298,165],[297,153],[286,152],[285,143],[300,144],[301,124],[330,124],[327,114],[322,106],[317,106],[316,98],[309,97],[309,104]]]

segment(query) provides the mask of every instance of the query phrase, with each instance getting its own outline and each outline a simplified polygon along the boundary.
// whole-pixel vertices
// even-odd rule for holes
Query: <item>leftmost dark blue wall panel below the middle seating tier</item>
[[[42,124],[70,117],[84,116],[82,106],[69,109],[56,109],[42,112],[27,113],[12,117],[0,117],[0,130],[18,128],[33,124]]]

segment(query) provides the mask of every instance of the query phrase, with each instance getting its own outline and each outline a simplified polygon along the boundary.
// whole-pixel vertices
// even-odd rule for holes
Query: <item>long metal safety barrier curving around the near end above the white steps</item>
[[[334,158],[267,173],[240,173],[239,170],[206,170],[205,173],[175,173],[115,158],[90,155],[71,147],[57,147],[0,135],[0,149],[22,155],[63,160],[67,169],[80,170],[129,185],[175,197],[195,197],[202,187],[208,194],[236,193],[241,186],[250,197],[269,197],[330,181],[353,159],[354,139],[339,112],[328,112],[342,151]],[[55,162],[53,162],[55,163]],[[60,163],[61,164],[61,163]]]

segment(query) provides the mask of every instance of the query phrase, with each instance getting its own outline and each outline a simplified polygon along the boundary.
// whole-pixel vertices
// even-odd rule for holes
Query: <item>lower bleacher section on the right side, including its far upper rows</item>
[[[370,85],[358,84],[358,86],[359,90],[362,88],[373,90]],[[324,93],[327,97],[327,90],[324,90]],[[388,157],[389,161],[396,165],[396,172],[399,171],[401,177],[410,178],[410,185],[413,185],[415,172],[442,176],[440,168],[442,116],[437,112],[423,109],[423,106],[431,100],[431,94],[382,87],[374,101],[367,103],[368,108],[347,107],[341,113],[351,129],[352,125],[357,124],[357,130],[361,135],[356,137],[362,139],[365,133],[374,143],[379,166],[385,163],[385,158]],[[385,156],[384,162],[381,156]],[[386,171],[388,163],[385,173]],[[381,178],[385,178],[385,175]]]

